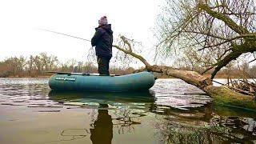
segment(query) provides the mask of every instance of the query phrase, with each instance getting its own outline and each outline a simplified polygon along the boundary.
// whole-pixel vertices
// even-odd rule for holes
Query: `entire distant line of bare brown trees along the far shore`
[[[94,62],[95,63],[95,62]],[[0,77],[39,77],[50,76],[46,71],[63,71],[72,72],[74,66],[78,66],[78,72],[98,73],[98,66],[93,62],[78,62],[70,59],[67,62],[59,62],[54,55],[41,53],[38,55],[30,55],[6,58],[0,62]],[[194,70],[202,73],[204,68],[200,66],[179,66],[180,70]],[[110,66],[111,74],[131,74],[134,68],[120,68]],[[208,71],[206,74],[210,74]],[[158,78],[169,78],[162,74],[156,74]],[[256,78],[256,66],[249,66],[243,62],[241,65],[230,65],[220,70],[216,78]]]

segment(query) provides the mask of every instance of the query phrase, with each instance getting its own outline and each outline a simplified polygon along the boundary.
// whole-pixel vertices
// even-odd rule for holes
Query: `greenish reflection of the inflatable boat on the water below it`
[[[49,98],[62,102],[64,105],[80,106],[101,109],[100,104],[106,104],[105,109],[118,109],[129,106],[130,109],[149,110],[154,105],[154,91],[126,93],[101,93],[101,92],[75,92],[75,91],[50,91]]]

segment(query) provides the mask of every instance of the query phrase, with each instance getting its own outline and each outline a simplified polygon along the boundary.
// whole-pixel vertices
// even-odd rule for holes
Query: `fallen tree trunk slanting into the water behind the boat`
[[[125,41],[125,43],[126,42],[127,41]],[[190,85],[197,86],[214,99],[214,104],[256,110],[256,102],[254,102],[253,97],[237,93],[225,86],[213,86],[211,79],[203,76],[202,74],[198,74],[195,71],[178,70],[170,66],[150,66],[149,62],[146,62],[145,58],[141,55],[134,54],[132,50],[125,50],[120,46],[114,47],[118,50],[122,50],[126,54],[134,56],[134,58],[138,58],[138,60],[145,64],[145,70],[166,74],[174,78],[182,79]]]

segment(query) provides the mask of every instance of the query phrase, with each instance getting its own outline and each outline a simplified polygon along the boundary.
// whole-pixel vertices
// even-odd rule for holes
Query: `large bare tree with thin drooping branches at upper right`
[[[196,52],[197,62],[214,68],[256,51],[254,0],[166,0],[158,21],[158,50]]]

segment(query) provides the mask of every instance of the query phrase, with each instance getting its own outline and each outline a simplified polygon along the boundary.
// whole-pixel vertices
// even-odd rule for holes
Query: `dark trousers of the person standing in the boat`
[[[110,75],[110,58],[97,57],[98,74]]]

